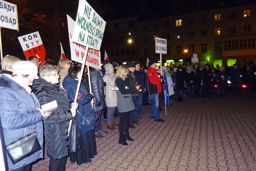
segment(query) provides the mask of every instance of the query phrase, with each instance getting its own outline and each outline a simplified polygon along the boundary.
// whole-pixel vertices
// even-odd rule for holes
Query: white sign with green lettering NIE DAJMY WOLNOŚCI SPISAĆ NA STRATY
[[[85,0],[79,1],[72,41],[100,50],[106,21]]]

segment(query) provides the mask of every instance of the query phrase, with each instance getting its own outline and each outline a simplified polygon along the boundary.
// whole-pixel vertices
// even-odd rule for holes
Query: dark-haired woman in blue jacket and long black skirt
[[[77,90],[78,81],[81,74],[81,68],[78,66],[72,66],[69,68],[69,74],[63,80],[63,87],[67,90],[67,97],[69,101],[74,101]],[[92,109],[92,103],[94,102],[93,95],[89,94],[84,85],[80,85],[79,94],[77,97],[77,124],[82,133],[82,147],[75,154],[69,154],[71,163],[77,162],[77,164],[88,164],[97,154],[96,141],[94,136],[94,123],[88,125],[85,122],[85,114],[95,115]]]

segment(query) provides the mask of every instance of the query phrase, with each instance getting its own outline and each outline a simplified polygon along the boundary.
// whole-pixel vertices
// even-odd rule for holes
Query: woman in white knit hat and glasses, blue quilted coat
[[[0,75],[0,121],[4,145],[10,144],[36,131],[41,150],[13,164],[6,150],[7,170],[31,170],[31,163],[43,158],[43,124],[50,113],[44,113],[29,86],[38,79],[38,69],[30,61],[19,61],[12,65],[13,73]],[[26,135],[25,134],[25,135]]]

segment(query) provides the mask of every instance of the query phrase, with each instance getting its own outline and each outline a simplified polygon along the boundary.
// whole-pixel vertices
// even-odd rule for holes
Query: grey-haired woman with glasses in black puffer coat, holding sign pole
[[[52,111],[44,121],[44,136],[47,154],[50,157],[49,171],[64,171],[69,155],[68,127],[69,120],[76,115],[77,103],[69,104],[64,90],[58,86],[57,66],[46,64],[40,67],[40,78],[34,82],[36,97],[40,105],[56,100],[58,109]]]

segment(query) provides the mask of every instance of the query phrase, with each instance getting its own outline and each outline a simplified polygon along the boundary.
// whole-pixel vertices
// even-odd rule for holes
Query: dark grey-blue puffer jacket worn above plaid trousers
[[[99,111],[107,107],[104,98],[104,81],[100,75],[100,71],[92,69],[91,76],[91,86],[92,93],[94,95],[94,111]],[[100,106],[97,106],[98,102],[101,102]]]

